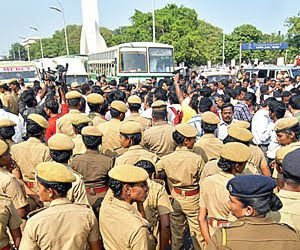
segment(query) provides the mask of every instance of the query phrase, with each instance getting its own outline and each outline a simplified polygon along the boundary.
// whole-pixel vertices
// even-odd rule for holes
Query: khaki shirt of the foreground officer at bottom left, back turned
[[[20,250],[85,249],[99,238],[98,222],[89,207],[58,198],[27,221]]]

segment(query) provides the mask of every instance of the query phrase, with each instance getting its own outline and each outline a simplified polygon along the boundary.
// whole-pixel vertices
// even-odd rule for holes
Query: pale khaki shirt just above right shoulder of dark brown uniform
[[[98,129],[103,133],[101,153],[113,155],[116,148],[120,148],[120,125],[121,121],[112,118],[110,121],[98,125]]]

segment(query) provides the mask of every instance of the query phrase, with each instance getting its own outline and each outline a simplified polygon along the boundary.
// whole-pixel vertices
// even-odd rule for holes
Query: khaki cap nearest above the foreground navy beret
[[[246,162],[250,154],[250,148],[240,142],[228,142],[221,149],[221,157],[233,162]]]

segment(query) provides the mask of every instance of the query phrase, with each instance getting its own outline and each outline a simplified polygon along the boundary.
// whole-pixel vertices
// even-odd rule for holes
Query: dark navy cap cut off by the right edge
[[[287,178],[300,179],[300,148],[288,153],[282,161],[282,171]]]

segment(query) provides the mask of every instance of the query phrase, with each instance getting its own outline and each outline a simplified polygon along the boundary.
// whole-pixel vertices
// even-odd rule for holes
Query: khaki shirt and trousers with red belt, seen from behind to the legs
[[[172,249],[183,248],[186,221],[194,248],[200,249],[199,243],[203,241],[203,237],[197,216],[199,180],[204,164],[203,159],[190,152],[187,147],[177,147],[173,153],[163,156],[157,163],[158,171],[164,170],[173,186],[171,195],[174,199],[172,201],[174,212],[170,215]]]

